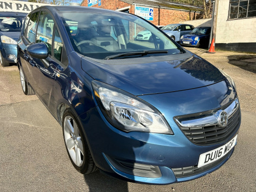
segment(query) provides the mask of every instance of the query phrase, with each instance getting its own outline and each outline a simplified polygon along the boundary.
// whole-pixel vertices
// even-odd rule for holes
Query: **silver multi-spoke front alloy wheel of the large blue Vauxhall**
[[[68,148],[69,155],[76,166],[83,163],[83,144],[75,120],[71,116],[64,119],[64,139]]]

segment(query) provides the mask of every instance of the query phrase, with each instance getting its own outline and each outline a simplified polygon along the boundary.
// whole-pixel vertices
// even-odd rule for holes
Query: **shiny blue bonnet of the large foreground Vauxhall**
[[[95,80],[134,95],[195,89],[225,79],[216,67],[189,52],[112,60],[82,57],[81,67]]]

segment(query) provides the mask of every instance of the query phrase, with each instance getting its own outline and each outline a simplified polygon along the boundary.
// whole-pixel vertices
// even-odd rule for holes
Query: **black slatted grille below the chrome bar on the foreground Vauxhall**
[[[212,145],[224,141],[229,136],[237,132],[240,126],[240,108],[237,106],[228,118],[228,123],[225,127],[218,123],[205,126],[181,126],[182,123],[178,121],[178,125],[185,136],[193,143],[198,145]],[[196,117],[194,117],[196,118]]]

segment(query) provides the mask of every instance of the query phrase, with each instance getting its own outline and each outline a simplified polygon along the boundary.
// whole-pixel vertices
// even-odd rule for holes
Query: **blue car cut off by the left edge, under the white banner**
[[[17,62],[17,40],[27,13],[0,12],[0,63],[7,67]]]

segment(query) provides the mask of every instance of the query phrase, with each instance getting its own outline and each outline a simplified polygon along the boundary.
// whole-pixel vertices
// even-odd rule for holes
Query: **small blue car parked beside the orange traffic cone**
[[[180,45],[208,48],[210,29],[210,27],[198,27],[193,29],[189,34],[181,36]]]

